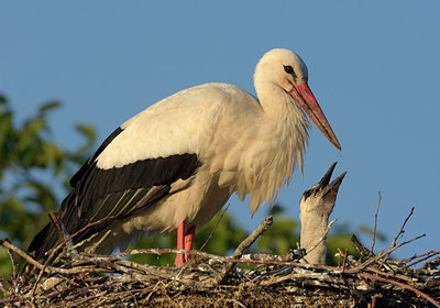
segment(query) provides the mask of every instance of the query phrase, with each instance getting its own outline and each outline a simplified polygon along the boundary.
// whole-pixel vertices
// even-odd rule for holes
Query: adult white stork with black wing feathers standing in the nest
[[[67,231],[103,219],[74,242],[111,230],[98,251],[111,253],[145,231],[177,229],[177,249],[190,250],[196,228],[234,191],[241,200],[250,195],[252,215],[273,204],[296,165],[302,170],[310,127],[302,110],[341,150],[307,80],[297,54],[272,50],[255,68],[260,100],[237,86],[206,84],[124,122],[70,179],[73,191],[59,210]],[[44,258],[58,241],[50,223],[29,250]],[[176,265],[187,260],[177,254]]]

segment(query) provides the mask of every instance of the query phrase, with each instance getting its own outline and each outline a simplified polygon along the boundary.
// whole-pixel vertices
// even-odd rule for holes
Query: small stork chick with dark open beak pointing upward
[[[329,184],[337,163],[333,163],[321,180],[302,194],[299,201],[299,219],[301,220],[301,249],[307,255],[302,258],[310,264],[326,263],[326,229],[329,223],[329,216],[333,211],[339,186],[346,172]],[[321,242],[319,242],[324,238]],[[319,243],[319,244],[318,244]],[[312,251],[310,248],[318,244]]]

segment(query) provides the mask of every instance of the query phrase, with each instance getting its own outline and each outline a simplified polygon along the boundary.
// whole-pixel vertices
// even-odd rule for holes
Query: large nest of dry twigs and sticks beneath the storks
[[[408,217],[409,218],[409,217]],[[404,226],[407,220],[405,220]],[[128,261],[143,253],[177,250],[132,250],[113,256],[78,253],[64,241],[54,262],[36,262],[8,240],[13,273],[0,284],[4,307],[440,307],[440,251],[392,261],[389,254],[413,239],[374,255],[353,235],[361,252],[340,251],[339,266],[300,262],[302,250],[287,255],[243,252],[272,223],[267,218],[231,257],[188,251],[195,257],[180,267],[157,267]],[[330,229],[331,223],[329,224]],[[327,234],[326,234],[327,235]],[[422,237],[422,235],[421,235]],[[72,237],[70,237],[72,238]],[[324,239],[324,237],[323,237]],[[322,240],[323,240],[322,239]],[[51,256],[56,254],[55,249]],[[24,257],[20,274],[15,254]],[[422,264],[424,263],[424,264]],[[56,265],[54,265],[56,264]],[[235,266],[246,264],[244,267]],[[418,265],[418,270],[415,266]]]

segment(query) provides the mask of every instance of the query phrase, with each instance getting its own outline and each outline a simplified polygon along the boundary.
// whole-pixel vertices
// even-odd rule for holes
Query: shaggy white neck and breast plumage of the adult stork
[[[273,84],[255,84],[263,114],[257,138],[248,143],[241,162],[238,195],[250,193],[252,215],[262,202],[275,201],[283,183],[288,184],[295,167],[302,172],[302,157],[310,127],[297,102]]]

